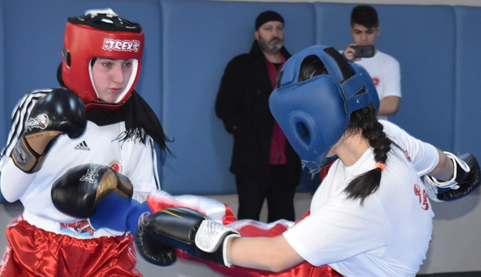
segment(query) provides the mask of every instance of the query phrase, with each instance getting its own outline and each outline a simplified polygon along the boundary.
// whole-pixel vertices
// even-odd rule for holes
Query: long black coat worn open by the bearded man
[[[291,55],[282,47],[286,59]],[[220,82],[215,114],[234,136],[230,171],[233,174],[262,179],[268,176],[270,140],[274,117],[269,110],[273,91],[266,57],[255,40],[251,51],[236,56],[227,64]],[[287,142],[289,179],[299,184],[301,162]]]

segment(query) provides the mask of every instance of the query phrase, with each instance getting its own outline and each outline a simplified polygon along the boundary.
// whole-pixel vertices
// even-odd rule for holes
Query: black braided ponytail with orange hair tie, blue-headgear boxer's
[[[361,199],[361,205],[380,186],[381,175],[387,160],[387,153],[391,150],[392,141],[387,138],[380,122],[377,122],[375,108],[369,105],[351,114],[351,120],[346,131],[355,132],[361,129],[363,136],[368,139],[369,145],[374,148],[374,158],[378,167],[371,169],[352,180],[344,189],[348,199]]]

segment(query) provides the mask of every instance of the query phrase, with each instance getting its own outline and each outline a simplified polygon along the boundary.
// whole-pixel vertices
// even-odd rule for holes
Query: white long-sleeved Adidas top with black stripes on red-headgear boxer
[[[36,98],[47,92],[27,94],[13,112],[11,133],[0,160],[1,192],[7,200],[20,199],[27,212],[42,219],[59,223],[78,221],[56,210],[51,200],[51,187],[68,169],[87,163],[113,167],[127,176],[137,196],[135,199],[139,201],[144,199],[140,199],[138,193],[146,195],[158,186],[154,141],[150,136],[147,136],[145,144],[134,139],[119,140],[118,137],[125,131],[125,122],[98,126],[87,121],[85,132],[77,139],[70,139],[65,134],[57,137],[38,172],[25,174],[15,167],[10,153],[22,133],[20,126],[30,113],[25,107],[32,107]],[[61,230],[59,233],[62,233]]]

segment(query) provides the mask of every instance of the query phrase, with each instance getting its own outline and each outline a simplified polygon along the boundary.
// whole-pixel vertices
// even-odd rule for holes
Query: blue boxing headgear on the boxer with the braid
[[[309,56],[319,58],[328,74],[299,82],[301,63]],[[270,112],[303,166],[313,174],[336,158],[327,157],[327,153],[346,131],[351,112],[369,104],[379,110],[368,72],[348,63],[332,47],[311,46],[296,53],[279,74],[277,88],[269,98]]]

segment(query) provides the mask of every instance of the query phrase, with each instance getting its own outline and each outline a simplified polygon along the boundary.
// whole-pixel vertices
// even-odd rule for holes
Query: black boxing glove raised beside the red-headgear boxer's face
[[[30,111],[23,134],[12,150],[12,160],[23,172],[37,172],[59,135],[77,138],[86,126],[82,99],[68,89],[53,89]]]

